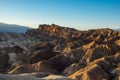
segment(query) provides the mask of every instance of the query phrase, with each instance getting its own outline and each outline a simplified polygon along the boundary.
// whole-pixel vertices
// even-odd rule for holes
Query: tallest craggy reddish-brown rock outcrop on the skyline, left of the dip
[[[79,35],[79,31],[73,28],[60,27],[55,24],[51,25],[44,24],[39,25],[38,29],[28,30],[26,34],[31,36],[36,36],[40,34],[48,37],[52,36],[55,38],[70,38],[70,37],[73,38]]]

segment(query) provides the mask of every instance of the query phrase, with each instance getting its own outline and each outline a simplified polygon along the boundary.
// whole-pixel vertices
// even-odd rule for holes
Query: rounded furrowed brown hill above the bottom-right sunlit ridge
[[[99,45],[95,48],[88,49],[82,59],[85,60],[87,63],[90,63],[103,56],[109,55],[109,52],[110,48],[108,45]]]

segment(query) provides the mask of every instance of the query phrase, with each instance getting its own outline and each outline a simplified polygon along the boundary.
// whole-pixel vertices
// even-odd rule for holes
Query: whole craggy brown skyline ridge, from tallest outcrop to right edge
[[[78,31],[73,28],[61,27],[55,24],[39,25],[38,29],[28,30],[27,35],[31,36],[47,36],[52,38],[64,38],[67,40],[91,39],[91,40],[109,40],[116,36],[120,36],[118,31],[113,31],[108,28],[101,28],[97,30]],[[112,38],[111,38],[112,37]]]

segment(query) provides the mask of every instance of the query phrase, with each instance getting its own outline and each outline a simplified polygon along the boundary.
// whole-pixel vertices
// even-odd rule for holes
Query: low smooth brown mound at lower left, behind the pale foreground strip
[[[33,73],[33,72],[45,72],[51,74],[57,74],[57,71],[52,69],[48,62],[41,61],[34,64],[20,64],[14,69],[9,70],[8,74],[21,74],[21,73]]]

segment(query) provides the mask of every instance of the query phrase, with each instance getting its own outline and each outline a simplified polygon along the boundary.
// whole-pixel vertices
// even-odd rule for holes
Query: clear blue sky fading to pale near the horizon
[[[0,22],[120,29],[120,0],[0,0]]]

